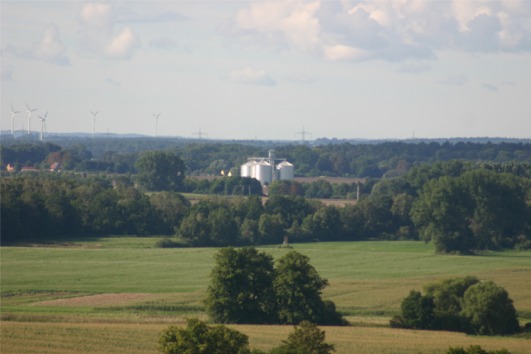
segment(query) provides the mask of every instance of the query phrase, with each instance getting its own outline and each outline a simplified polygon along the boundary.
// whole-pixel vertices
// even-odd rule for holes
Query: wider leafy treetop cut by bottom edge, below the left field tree
[[[166,354],[244,354],[250,353],[249,339],[225,326],[208,326],[188,319],[186,328],[171,326],[159,339],[159,349]]]

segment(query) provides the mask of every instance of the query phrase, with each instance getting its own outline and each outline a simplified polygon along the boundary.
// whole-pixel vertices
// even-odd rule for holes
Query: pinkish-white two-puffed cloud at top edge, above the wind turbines
[[[125,27],[115,34],[110,4],[86,3],[79,13],[81,43],[89,52],[109,59],[129,59],[140,46],[138,36]]]

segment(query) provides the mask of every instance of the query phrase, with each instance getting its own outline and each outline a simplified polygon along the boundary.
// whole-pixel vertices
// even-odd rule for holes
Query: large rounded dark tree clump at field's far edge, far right
[[[511,247],[529,227],[522,185],[513,176],[475,170],[431,180],[411,211],[439,252]]]

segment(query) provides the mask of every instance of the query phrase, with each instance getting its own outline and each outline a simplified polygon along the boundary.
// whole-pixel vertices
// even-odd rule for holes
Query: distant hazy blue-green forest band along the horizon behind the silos
[[[239,166],[248,157],[267,156],[270,148],[295,165],[297,176],[393,177],[421,163],[456,159],[531,164],[529,143],[345,142],[310,146],[146,138],[56,139],[53,143],[8,139],[2,141],[1,164],[5,170],[7,164],[48,168],[51,163],[60,162],[65,170],[135,174],[135,162],[142,153],[168,151],[182,159],[187,175],[219,175],[221,170],[238,175]]]

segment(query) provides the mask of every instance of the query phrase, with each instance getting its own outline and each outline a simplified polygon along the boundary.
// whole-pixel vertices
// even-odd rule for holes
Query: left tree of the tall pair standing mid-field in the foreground
[[[273,258],[254,248],[216,254],[206,310],[220,323],[276,322]]]

